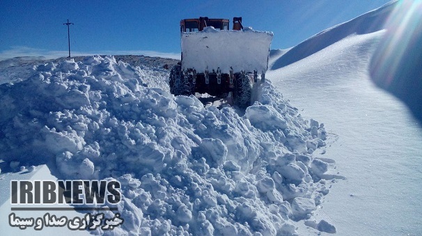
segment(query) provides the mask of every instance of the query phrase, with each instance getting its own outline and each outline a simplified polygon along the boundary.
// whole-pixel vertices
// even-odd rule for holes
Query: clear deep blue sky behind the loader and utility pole
[[[180,19],[242,17],[272,31],[271,49],[294,47],[389,0],[0,1],[0,60],[15,56],[134,54],[180,58]]]

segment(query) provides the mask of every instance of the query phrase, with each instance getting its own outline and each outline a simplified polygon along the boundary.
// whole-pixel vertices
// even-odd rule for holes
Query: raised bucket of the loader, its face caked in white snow
[[[218,31],[212,26],[201,32],[182,32],[182,69],[195,69],[197,73],[217,71],[228,74],[233,71],[267,71],[272,32]]]

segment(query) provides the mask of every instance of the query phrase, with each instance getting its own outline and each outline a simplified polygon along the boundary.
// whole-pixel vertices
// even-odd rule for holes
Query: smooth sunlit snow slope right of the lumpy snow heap
[[[347,24],[373,26],[378,16],[384,19],[374,12],[393,12],[391,6]],[[302,60],[273,54],[274,70],[267,74],[304,117],[325,121],[327,133],[337,140],[327,153],[315,156],[336,160],[336,170],[346,177],[306,222],[310,228],[299,227],[298,232],[316,235],[313,220],[330,219],[338,235],[421,235],[422,202],[417,196],[422,194],[422,130],[401,101],[373,84],[368,71],[386,32],[332,31],[340,34],[336,41],[299,54]],[[296,53],[322,42],[323,34],[299,44]]]

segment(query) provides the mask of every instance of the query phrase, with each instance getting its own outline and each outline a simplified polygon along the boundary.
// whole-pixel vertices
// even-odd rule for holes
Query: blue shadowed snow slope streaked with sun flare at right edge
[[[422,1],[397,1],[370,64],[373,81],[422,118]]]

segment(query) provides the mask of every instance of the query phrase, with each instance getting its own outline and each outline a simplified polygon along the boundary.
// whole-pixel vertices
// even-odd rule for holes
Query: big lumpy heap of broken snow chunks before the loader
[[[168,76],[155,72],[151,81]],[[116,235],[295,235],[292,219],[326,194],[327,163],[308,144],[325,145],[323,125],[269,82],[243,116],[147,84],[139,67],[91,56],[0,85],[1,159],[49,163],[62,179],[119,180]]]

